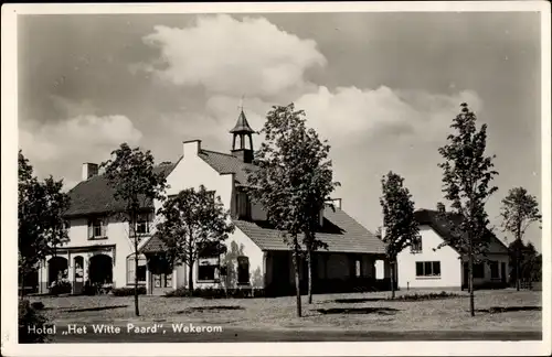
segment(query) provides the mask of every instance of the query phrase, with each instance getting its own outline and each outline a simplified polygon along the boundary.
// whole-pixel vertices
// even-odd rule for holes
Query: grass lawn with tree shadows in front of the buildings
[[[416,292],[424,293],[424,292]],[[221,299],[140,295],[140,317],[134,315],[134,298],[34,296],[54,323],[121,323],[132,321],[194,323],[226,327],[290,328],[309,331],[540,331],[541,292],[476,291],[476,316],[469,316],[469,299],[389,301],[388,292],[304,296],[304,317],[295,316],[295,298]],[[397,295],[414,294],[401,291]]]

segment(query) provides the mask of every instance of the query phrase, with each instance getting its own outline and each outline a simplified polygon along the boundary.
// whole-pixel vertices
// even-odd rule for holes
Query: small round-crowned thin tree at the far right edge
[[[532,196],[523,187],[513,187],[508,192],[508,195],[502,199],[502,207],[500,209],[502,217],[502,228],[505,231],[513,235],[514,240],[518,241],[516,247],[516,289],[520,290],[520,260],[523,236],[527,228],[531,224],[541,220],[539,214],[539,203],[537,197]]]

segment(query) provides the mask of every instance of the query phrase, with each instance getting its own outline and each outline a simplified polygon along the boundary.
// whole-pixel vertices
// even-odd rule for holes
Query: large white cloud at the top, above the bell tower
[[[160,50],[160,58],[142,69],[215,94],[278,95],[307,85],[305,72],[326,65],[315,41],[282,31],[264,18],[199,17],[192,28],[156,26],[144,41]]]

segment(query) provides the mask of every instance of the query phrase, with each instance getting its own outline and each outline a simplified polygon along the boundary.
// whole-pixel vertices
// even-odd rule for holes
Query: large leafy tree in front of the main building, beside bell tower
[[[248,193],[291,250],[297,315],[301,316],[299,263],[305,256],[311,302],[312,251],[325,247],[316,230],[325,203],[339,183],[332,182],[330,147],[307,128],[305,112],[295,110],[294,104],[274,106],[261,132],[265,142],[255,154],[258,170],[250,172]]]

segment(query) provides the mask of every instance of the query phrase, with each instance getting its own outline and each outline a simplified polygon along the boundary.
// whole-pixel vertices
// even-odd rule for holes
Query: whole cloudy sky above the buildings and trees
[[[443,201],[437,149],[466,101],[497,154],[492,224],[511,187],[540,202],[539,13],[20,15],[18,31],[19,145],[67,186],[121,142],[158,162],[188,139],[229,151],[242,96],[256,130],[293,101],[373,230],[390,170],[418,208]],[[528,238],[540,249],[537,227]]]

